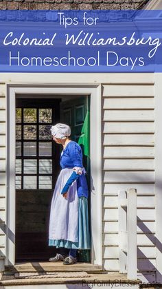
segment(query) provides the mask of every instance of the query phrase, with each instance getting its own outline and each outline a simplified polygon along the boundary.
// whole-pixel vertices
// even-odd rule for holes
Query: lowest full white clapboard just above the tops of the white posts
[[[153,171],[105,171],[104,182],[154,182]]]

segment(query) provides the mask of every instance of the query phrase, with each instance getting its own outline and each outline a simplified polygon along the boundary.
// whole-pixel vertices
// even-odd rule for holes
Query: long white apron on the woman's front
[[[62,169],[51,200],[49,239],[65,239],[78,242],[78,195],[76,181],[70,186],[67,199],[61,191],[73,169]]]

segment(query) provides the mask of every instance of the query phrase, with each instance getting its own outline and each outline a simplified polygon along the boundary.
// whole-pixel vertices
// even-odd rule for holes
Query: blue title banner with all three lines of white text
[[[107,29],[108,23],[100,22],[100,17],[88,17],[87,12],[82,12],[81,22],[58,12],[58,23],[51,26],[38,29],[35,23],[31,30],[27,23],[24,25],[24,30],[18,23],[15,29],[9,25],[3,32],[1,50],[5,47],[6,67],[45,67],[51,72],[61,71],[61,67],[102,67],[106,71],[106,67],[117,66],[132,71],[154,63],[161,49],[158,34],[133,30],[135,25],[124,30],[125,23]],[[119,25],[125,26],[119,29]]]

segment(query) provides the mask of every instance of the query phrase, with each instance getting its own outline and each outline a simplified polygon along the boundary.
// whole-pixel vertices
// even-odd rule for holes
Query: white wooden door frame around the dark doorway
[[[7,85],[7,212],[5,265],[15,264],[15,109],[16,95],[89,95],[91,158],[91,264],[102,266],[102,101],[101,85]],[[95,145],[94,145],[95,143]],[[97,168],[97,169],[96,169]],[[97,212],[97,213],[96,213]]]

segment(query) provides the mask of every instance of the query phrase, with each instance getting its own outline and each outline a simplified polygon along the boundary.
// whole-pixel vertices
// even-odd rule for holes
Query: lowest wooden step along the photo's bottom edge
[[[81,288],[113,288],[112,284],[116,284],[117,288],[122,289],[123,287],[126,287],[127,289],[137,289],[139,288],[139,283],[141,283],[139,280],[128,280],[126,275],[121,275],[119,273],[115,274],[90,274],[89,277],[71,277],[71,278],[40,278],[40,279],[15,279],[14,276],[5,276],[2,275],[0,286],[7,286],[7,288],[11,289],[14,288],[12,286],[20,286],[18,288],[25,289],[33,289],[36,288],[36,285],[39,289],[45,289],[45,288],[70,288],[70,289],[81,289]],[[72,285],[73,284],[73,285]],[[79,286],[80,284],[80,286]],[[43,286],[44,285],[44,286]],[[51,286],[50,286],[51,285]],[[58,285],[58,286],[56,286]],[[59,287],[60,285],[60,287]],[[74,286],[75,285],[75,286]],[[26,286],[26,287],[25,287]],[[90,287],[91,286],[91,287]],[[102,287],[103,286],[103,287]]]

